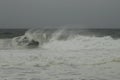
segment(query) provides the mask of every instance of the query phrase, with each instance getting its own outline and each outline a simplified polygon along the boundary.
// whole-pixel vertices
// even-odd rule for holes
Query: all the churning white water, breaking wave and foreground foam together
[[[30,29],[0,39],[0,80],[120,80],[119,34],[98,32]]]

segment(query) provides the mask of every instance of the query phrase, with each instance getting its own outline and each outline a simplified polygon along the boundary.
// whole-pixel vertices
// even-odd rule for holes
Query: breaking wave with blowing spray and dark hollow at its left
[[[31,29],[23,36],[15,37],[12,44],[15,48],[49,48],[62,50],[79,49],[119,49],[120,40],[110,36],[86,36],[73,30]]]

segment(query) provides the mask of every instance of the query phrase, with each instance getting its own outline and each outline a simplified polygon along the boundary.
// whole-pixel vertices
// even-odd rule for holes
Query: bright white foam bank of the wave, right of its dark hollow
[[[120,49],[120,39],[106,37],[76,36],[68,40],[51,40],[43,48],[53,50],[80,50],[80,49]]]

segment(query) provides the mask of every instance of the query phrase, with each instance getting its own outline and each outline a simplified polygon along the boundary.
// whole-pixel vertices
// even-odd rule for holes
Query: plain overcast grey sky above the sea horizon
[[[41,25],[120,28],[120,0],[0,0],[0,28]]]

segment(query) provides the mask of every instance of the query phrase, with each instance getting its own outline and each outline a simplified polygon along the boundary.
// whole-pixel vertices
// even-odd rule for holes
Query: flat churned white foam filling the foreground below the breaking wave
[[[119,80],[120,50],[0,50],[1,80]],[[19,80],[18,79],[18,80]]]

